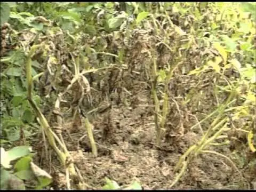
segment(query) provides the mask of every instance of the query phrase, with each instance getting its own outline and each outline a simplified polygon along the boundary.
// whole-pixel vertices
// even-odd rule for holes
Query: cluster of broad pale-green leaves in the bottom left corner
[[[18,146],[5,151],[1,147],[1,189],[26,189],[24,181],[33,181],[34,189],[43,189],[52,182],[51,176],[32,161],[31,147]],[[18,160],[14,165],[11,162]]]

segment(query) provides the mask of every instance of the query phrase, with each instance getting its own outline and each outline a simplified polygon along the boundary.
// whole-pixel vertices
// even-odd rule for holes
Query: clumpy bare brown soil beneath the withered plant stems
[[[99,189],[105,185],[105,177],[115,180],[120,186],[138,181],[143,189],[246,189],[244,182],[225,159],[214,155],[199,155],[192,161],[186,174],[172,188],[175,178],[174,166],[200,137],[191,131],[162,141],[162,147],[155,146],[153,114],[148,107],[113,107],[97,116],[94,138],[98,144],[98,157],[93,157],[89,139],[78,140],[86,131],[71,133],[75,142],[67,140],[67,147],[74,163],[81,172],[87,189]],[[146,113],[147,116],[140,114]],[[110,123],[106,123],[106,119]],[[230,151],[220,151],[227,155]],[[58,161],[52,162],[58,166]],[[65,172],[63,172],[65,173]],[[65,175],[58,181],[57,188],[65,188]],[[60,175],[61,173],[59,173]],[[253,180],[253,179],[252,179]],[[61,182],[62,181],[62,182]],[[255,182],[255,179],[254,179]],[[62,184],[61,184],[62,183]],[[253,183],[253,182],[252,182]]]

